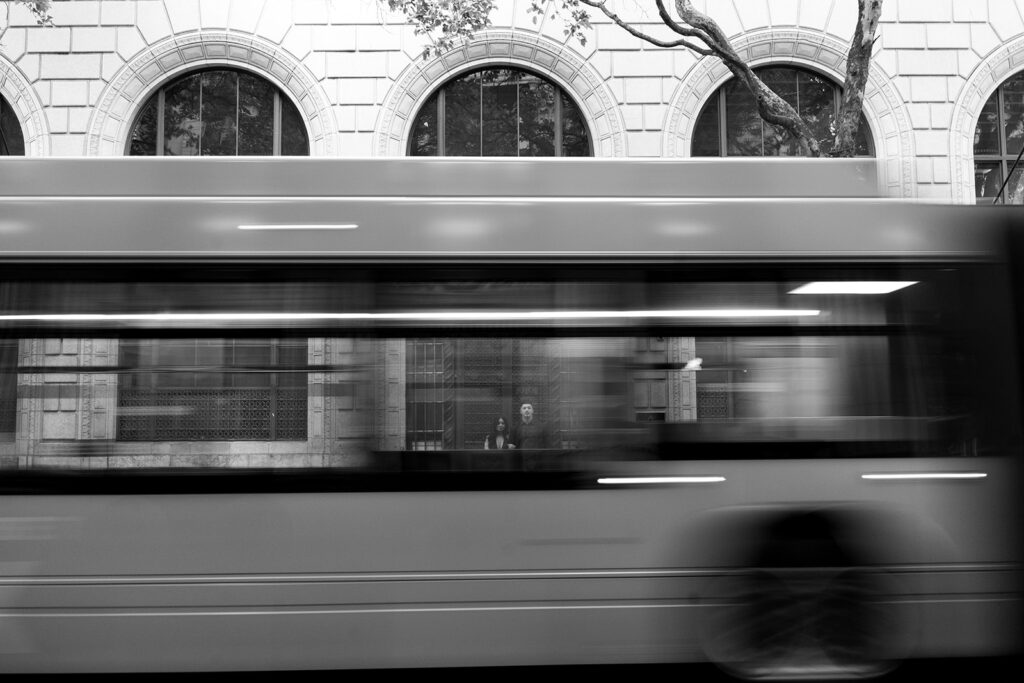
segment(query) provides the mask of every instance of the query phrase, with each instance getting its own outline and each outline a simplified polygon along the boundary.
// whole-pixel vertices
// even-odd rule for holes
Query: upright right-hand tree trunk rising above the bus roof
[[[860,127],[860,113],[864,106],[864,88],[867,86],[867,70],[871,62],[871,48],[874,33],[882,14],[882,0],[857,0],[857,28],[850,43],[850,53],[846,58],[846,82],[843,84],[843,103],[839,110],[836,126],[836,143],[829,156],[852,157],[856,153],[857,130]]]

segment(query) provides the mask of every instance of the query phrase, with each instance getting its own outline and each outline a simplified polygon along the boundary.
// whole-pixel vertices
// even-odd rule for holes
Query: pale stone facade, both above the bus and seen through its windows
[[[665,34],[656,14],[638,7],[642,3],[615,4],[642,30]],[[696,4],[721,24],[752,66],[810,74],[835,87],[842,83],[856,20],[854,0]],[[600,14],[581,45],[565,38],[560,20],[535,22],[528,0],[499,5],[492,29],[446,54],[424,59],[424,38],[376,0],[58,1],[51,28],[36,26],[24,7],[5,3],[0,8],[5,145],[9,143],[11,154],[29,157],[127,155],[140,139],[146,108],[162,106],[174,96],[171,84],[197,73],[225,71],[255,76],[276,93],[274,153],[286,145],[280,121],[288,112],[294,113],[288,116],[305,145],[295,154],[400,157],[413,148],[422,126],[444,120],[440,103],[437,120],[424,119],[424,113],[433,112],[449,84],[481,70],[504,69],[553,84],[563,95],[558,106],[582,121],[586,150],[594,157],[685,158],[698,150],[732,150],[728,116],[708,114],[719,112],[711,108],[730,80],[720,60],[645,44]],[[722,108],[731,101],[721,95]],[[236,113],[241,111],[234,106]],[[158,119],[156,132],[150,133],[160,150],[165,124],[162,115]],[[709,122],[725,130],[721,145],[702,139]],[[1024,144],[1024,5],[1017,0],[886,0],[864,122],[866,153],[882,162],[889,196],[990,201]],[[567,130],[556,132],[555,139]],[[439,148],[440,143],[434,139],[430,144]],[[186,143],[182,148],[190,147]],[[171,154],[169,150],[165,146],[163,154]],[[1022,177],[1017,170],[1011,178],[1005,193],[1011,202],[1024,201]],[[354,352],[334,342],[310,340],[310,365],[325,357],[336,365]],[[692,343],[668,340],[656,351],[685,361],[694,354]],[[387,377],[377,383],[389,396],[382,415],[397,420],[386,430],[396,436],[395,447],[401,447],[402,425],[411,429],[402,384],[412,362],[410,348],[394,340],[370,350],[386,356],[379,365]],[[112,354],[117,349],[103,340],[23,340],[6,360],[23,369],[81,368],[109,365]],[[548,372],[542,370],[542,375]],[[18,442],[0,443],[0,456],[38,455],[73,463],[89,457],[84,441],[116,437],[116,390],[111,387],[116,378],[90,375],[85,386],[76,377],[22,373],[19,391],[23,386],[53,386],[30,391],[38,398],[18,408]],[[670,421],[694,419],[692,397],[672,399],[680,388],[695,395],[691,378],[674,383],[664,377],[641,379],[636,384],[643,385],[647,403],[636,403],[638,419],[640,413],[657,419],[667,414]],[[314,374],[309,381],[310,387],[324,386],[324,378]],[[57,386],[76,382],[74,391],[62,393]],[[360,401],[353,403],[350,395],[334,396],[328,404],[324,396],[330,393],[310,390],[308,429],[301,442],[245,439],[227,447],[216,441],[153,441],[139,464],[173,464],[175,457],[200,465],[263,466],[273,458],[299,465],[338,464],[344,460],[337,460],[341,432],[351,435],[352,424],[370,424],[374,418],[353,417],[352,405]],[[11,431],[13,424],[9,427],[0,432]],[[360,434],[375,431],[359,429]],[[137,445],[125,452],[130,458],[140,453]]]

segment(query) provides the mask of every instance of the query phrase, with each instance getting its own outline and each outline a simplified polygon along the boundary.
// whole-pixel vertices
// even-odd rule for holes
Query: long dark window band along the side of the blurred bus
[[[1016,399],[1000,383],[1013,360],[993,342],[1011,335],[985,312],[998,297],[983,268],[791,266],[776,279],[734,281],[656,268],[558,281],[512,266],[482,280],[472,266],[341,273],[350,282],[327,271],[253,284],[205,274],[183,283],[24,274],[0,285],[0,440],[13,438],[16,416],[29,416],[39,431],[26,438],[41,439],[33,451],[43,454],[40,466],[59,442],[61,457],[71,450],[79,460],[67,462],[84,467],[95,452],[120,463],[104,466],[571,469],[602,458],[949,457],[996,452],[1016,424]],[[808,283],[894,280],[915,284],[887,294],[791,294]],[[575,315],[798,305],[820,315]],[[525,323],[121,319],[105,333],[90,323],[88,335],[73,323],[10,317],[97,307],[552,314]],[[76,431],[86,412],[109,420],[105,440]],[[500,453],[478,458],[498,418],[508,444],[503,437]]]

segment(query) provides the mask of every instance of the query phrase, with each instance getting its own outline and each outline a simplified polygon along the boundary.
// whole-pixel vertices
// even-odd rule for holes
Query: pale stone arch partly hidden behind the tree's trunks
[[[753,67],[804,67],[842,84],[849,46],[823,33],[808,30],[759,31],[733,41],[739,56]],[[663,148],[667,157],[689,157],[700,109],[732,78],[721,59],[697,61],[679,82],[669,103]],[[870,128],[886,194],[913,197],[915,175],[913,131],[903,98],[878,63],[871,66],[864,90],[864,118]]]

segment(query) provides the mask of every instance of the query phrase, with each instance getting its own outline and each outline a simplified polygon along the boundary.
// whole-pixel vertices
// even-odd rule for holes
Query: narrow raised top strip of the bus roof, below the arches
[[[879,197],[873,159],[0,158],[4,197]]]

